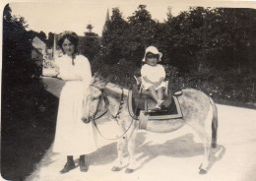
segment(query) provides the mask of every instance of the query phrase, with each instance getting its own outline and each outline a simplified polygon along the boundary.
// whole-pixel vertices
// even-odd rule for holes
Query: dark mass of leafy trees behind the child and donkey
[[[171,15],[171,8],[167,11],[166,21],[159,23],[152,20],[144,5],[128,21],[119,9],[113,9],[102,33],[104,63],[115,64],[115,70],[123,71],[126,69],[120,62],[139,67],[145,47],[153,44],[163,53],[168,74],[171,67],[177,68],[175,79],[182,80],[183,88],[200,86],[224,97],[255,95],[255,10],[191,7],[176,17]],[[120,81],[117,72],[111,74]],[[244,88],[248,91],[241,91]]]

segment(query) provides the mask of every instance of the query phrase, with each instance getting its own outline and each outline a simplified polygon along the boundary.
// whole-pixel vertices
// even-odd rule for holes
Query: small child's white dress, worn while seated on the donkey
[[[147,77],[152,82],[159,82],[160,78],[165,78],[165,70],[164,67],[160,64],[157,64],[156,66],[151,66],[148,64],[145,64],[142,66],[141,69],[141,76],[142,76],[142,86],[144,90],[148,90],[150,87],[154,86],[153,84],[147,83],[143,77]],[[155,86],[154,86],[155,87]],[[165,88],[166,84],[164,81],[161,82],[159,87],[155,87],[156,90],[159,90],[160,88]]]

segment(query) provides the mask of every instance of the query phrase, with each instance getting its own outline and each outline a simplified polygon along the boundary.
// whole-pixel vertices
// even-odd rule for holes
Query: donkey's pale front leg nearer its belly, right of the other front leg
[[[138,123],[137,121],[134,121],[134,124],[132,125],[131,129],[127,133],[127,140],[128,140],[128,152],[129,152],[129,166],[126,168],[126,173],[132,173],[135,170],[135,141],[136,141],[136,135],[138,130]]]

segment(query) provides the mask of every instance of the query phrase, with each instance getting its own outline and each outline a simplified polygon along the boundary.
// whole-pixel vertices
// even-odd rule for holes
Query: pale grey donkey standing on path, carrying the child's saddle
[[[208,171],[210,162],[211,146],[212,148],[217,147],[217,106],[214,100],[202,91],[185,89],[182,92],[181,95],[177,96],[177,99],[183,116],[176,119],[148,121],[145,129],[151,132],[167,133],[173,132],[185,124],[191,126],[202,139],[205,153],[199,167],[199,173],[205,174]],[[119,171],[123,167],[123,151],[125,145],[128,144],[127,148],[130,157],[129,165],[125,172],[131,173],[135,170],[135,140],[140,123],[129,112],[128,94],[129,90],[95,78],[91,86],[89,86],[84,99],[82,120],[86,123],[95,121],[96,115],[102,115],[105,111],[109,112],[107,114],[109,119],[117,121],[119,131],[123,133],[117,142],[118,156],[112,171]],[[141,117],[143,115],[139,119]]]

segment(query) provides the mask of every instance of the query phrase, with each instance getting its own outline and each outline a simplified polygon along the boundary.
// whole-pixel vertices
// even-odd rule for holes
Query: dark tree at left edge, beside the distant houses
[[[9,4],[3,16],[3,86],[13,88],[30,84],[40,76],[32,62],[32,39],[24,18],[11,16]]]

